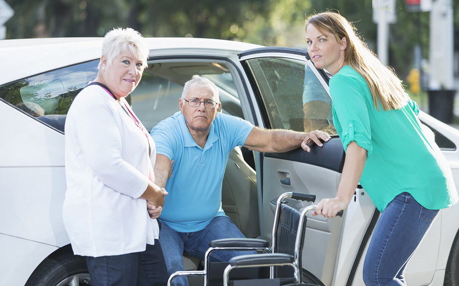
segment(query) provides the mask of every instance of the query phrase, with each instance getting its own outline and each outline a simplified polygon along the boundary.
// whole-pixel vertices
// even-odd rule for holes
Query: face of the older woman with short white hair
[[[110,91],[118,99],[133,92],[142,79],[143,62],[129,51],[122,51],[111,63],[104,60],[106,58],[102,59],[103,77]]]

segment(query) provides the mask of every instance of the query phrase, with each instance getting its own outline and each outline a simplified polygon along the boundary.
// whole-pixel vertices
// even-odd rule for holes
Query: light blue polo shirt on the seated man
[[[181,112],[161,121],[151,130],[157,154],[174,160],[167,180],[160,220],[175,231],[205,228],[214,217],[224,216],[221,186],[228,155],[245,140],[253,125],[239,117],[218,113],[204,148],[191,136]]]

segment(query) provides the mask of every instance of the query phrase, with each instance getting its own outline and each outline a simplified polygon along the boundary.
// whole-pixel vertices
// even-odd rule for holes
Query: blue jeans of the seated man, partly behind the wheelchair
[[[245,238],[236,225],[225,216],[215,217],[206,228],[196,232],[177,232],[162,222],[160,243],[163,248],[167,271],[184,271],[182,255],[187,254],[204,260],[204,254],[209,248],[209,242],[225,238]],[[211,262],[228,262],[234,256],[254,254],[254,251],[214,251]],[[186,277],[176,277],[173,285],[188,285]]]

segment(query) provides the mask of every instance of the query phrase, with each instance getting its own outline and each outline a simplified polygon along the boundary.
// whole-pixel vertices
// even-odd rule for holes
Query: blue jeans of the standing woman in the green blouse
[[[365,285],[406,285],[406,264],[438,212],[425,209],[409,193],[396,196],[374,229],[363,268]]]

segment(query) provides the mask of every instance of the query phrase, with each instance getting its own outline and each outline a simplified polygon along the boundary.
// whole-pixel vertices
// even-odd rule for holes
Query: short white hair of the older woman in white
[[[131,53],[137,60],[142,61],[144,68],[147,67],[148,45],[136,30],[116,28],[105,35],[101,55],[107,57],[108,63],[111,63],[123,51]],[[97,69],[100,69],[100,66],[101,62],[99,62]]]

